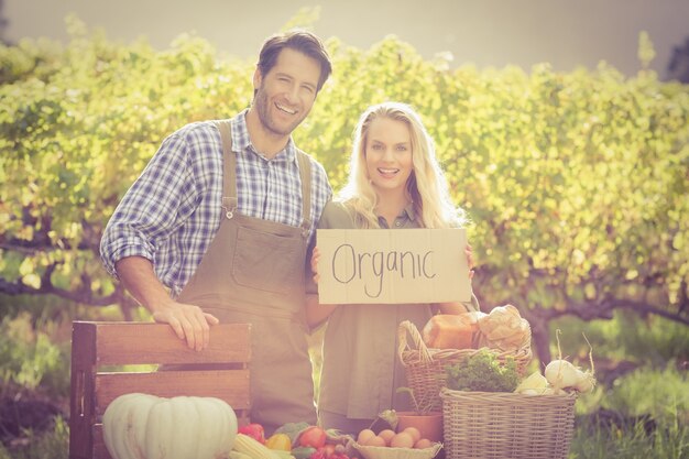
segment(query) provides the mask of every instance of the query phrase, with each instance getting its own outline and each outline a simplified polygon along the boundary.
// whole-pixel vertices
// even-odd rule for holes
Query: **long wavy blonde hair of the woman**
[[[365,159],[369,129],[373,120],[387,118],[409,128],[412,174],[406,192],[423,228],[459,228],[467,223],[466,212],[450,198],[447,179],[436,159],[435,145],[416,111],[406,103],[383,102],[369,107],[359,118],[350,159],[349,181],[340,192],[344,205],[353,211],[361,228],[380,228],[374,209],[378,195],[371,184]]]

